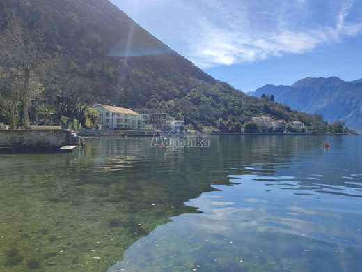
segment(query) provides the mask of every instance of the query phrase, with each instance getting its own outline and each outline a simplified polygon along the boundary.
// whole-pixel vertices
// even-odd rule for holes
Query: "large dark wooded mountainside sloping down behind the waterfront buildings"
[[[0,72],[6,123],[24,123],[29,104],[30,121],[89,127],[89,105],[110,103],[164,107],[225,131],[260,114],[328,128],[320,116],[214,80],[107,0],[0,0]]]

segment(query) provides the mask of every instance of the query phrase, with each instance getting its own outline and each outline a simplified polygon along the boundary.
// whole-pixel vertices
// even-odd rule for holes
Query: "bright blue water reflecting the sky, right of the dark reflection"
[[[225,146],[233,143],[225,147],[230,157],[224,163],[235,161],[228,177],[238,184],[216,185],[218,191],[191,199],[187,205],[202,213],[157,227],[108,271],[359,270],[361,139],[328,137],[328,151],[321,140],[221,138]]]

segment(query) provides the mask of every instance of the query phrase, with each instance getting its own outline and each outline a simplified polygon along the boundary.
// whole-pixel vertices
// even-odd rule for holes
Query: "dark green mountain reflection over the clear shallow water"
[[[0,252],[15,247],[22,256],[0,270],[26,270],[35,258],[45,271],[104,271],[169,218],[200,213],[184,202],[216,190],[211,183],[229,184],[230,164],[269,164],[272,174],[319,139],[210,137],[210,149],[150,142],[89,140],[83,153],[0,156]]]

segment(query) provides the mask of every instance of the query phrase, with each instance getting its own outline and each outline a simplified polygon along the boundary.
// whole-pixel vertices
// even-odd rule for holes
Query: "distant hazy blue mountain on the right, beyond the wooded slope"
[[[340,119],[349,128],[362,130],[362,80],[308,77],[292,86],[265,85],[252,94],[274,95],[276,101],[293,109],[322,114],[329,122]]]

